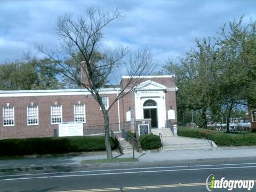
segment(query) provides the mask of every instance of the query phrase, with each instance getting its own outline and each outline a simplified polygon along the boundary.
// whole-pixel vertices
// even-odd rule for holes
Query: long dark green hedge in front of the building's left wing
[[[111,148],[116,149],[117,139],[110,138]],[[0,140],[0,156],[61,154],[80,151],[106,150],[104,137],[77,136]]]

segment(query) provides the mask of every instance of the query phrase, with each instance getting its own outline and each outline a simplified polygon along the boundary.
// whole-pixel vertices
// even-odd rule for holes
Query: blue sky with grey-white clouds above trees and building
[[[66,12],[83,15],[87,7],[119,7],[125,18],[105,29],[105,43],[134,49],[148,46],[159,67],[182,57],[195,45],[195,38],[216,35],[225,22],[244,15],[244,25],[256,20],[256,1],[23,1],[0,0],[0,63],[22,58],[35,42],[58,45],[54,27]],[[35,54],[37,54],[34,51]]]

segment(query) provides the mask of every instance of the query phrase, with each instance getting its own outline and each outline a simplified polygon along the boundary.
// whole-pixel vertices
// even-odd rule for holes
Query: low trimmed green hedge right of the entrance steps
[[[251,146],[256,145],[256,133],[222,133],[207,129],[186,129],[179,128],[178,135],[190,138],[207,139],[207,134],[210,131],[210,139],[219,146]]]

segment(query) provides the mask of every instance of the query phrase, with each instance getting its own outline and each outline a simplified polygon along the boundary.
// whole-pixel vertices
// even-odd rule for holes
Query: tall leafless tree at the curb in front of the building
[[[111,21],[122,18],[119,9],[102,11],[95,7],[87,9],[86,17],[77,20],[74,20],[70,14],[65,14],[57,20],[56,30],[60,39],[60,49],[51,51],[42,45],[36,45],[39,51],[57,65],[54,68],[47,65],[44,67],[57,70],[71,82],[84,87],[99,103],[105,124],[108,158],[113,158],[109,142],[110,108],[118,99],[131,93],[142,82],[143,78],[139,77],[152,73],[155,65],[148,49],[141,49],[136,53],[122,46],[114,50],[102,49],[102,29]],[[122,84],[121,89],[118,89],[117,97],[109,103],[109,108],[105,109],[99,92],[100,87],[107,84],[116,89],[113,77],[120,77],[122,74],[130,78]]]

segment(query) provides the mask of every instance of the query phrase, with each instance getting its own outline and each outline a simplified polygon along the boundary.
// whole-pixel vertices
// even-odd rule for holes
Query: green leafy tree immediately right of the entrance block
[[[179,121],[184,119],[186,109],[201,112],[202,126],[207,127],[206,113],[213,101],[215,52],[210,39],[196,39],[196,49],[186,53],[179,63],[169,62],[164,71],[174,73],[177,86],[177,108]]]

